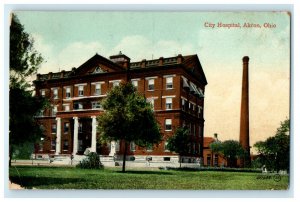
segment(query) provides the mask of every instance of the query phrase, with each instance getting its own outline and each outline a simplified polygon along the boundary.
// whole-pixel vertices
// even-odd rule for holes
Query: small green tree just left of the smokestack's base
[[[226,158],[229,167],[235,167],[238,158],[243,158],[245,150],[236,140],[226,140],[222,143],[222,154]]]

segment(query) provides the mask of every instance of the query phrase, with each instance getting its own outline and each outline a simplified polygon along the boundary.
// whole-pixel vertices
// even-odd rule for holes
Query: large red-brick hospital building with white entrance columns
[[[152,103],[161,125],[163,141],[152,148],[132,142],[128,158],[178,160],[166,149],[167,138],[177,127],[187,125],[191,147],[186,161],[203,157],[203,109],[206,77],[197,55],[130,62],[121,52],[109,59],[94,55],[78,68],[38,74],[34,81],[36,95],[50,98],[51,109],[37,117],[45,138],[35,153],[43,155],[82,155],[88,148],[103,156],[118,158],[123,144],[97,142],[96,117],[103,113],[100,101],[120,82],[131,81],[137,91]]]

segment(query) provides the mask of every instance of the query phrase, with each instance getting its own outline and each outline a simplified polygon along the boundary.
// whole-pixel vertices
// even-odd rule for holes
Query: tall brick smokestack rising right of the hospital
[[[240,144],[246,150],[246,157],[241,159],[240,166],[250,166],[250,145],[249,145],[249,57],[243,57],[243,80],[242,80],[242,101],[240,119]]]

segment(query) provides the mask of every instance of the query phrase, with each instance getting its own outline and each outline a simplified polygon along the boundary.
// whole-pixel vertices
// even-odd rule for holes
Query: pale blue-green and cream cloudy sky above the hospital
[[[42,74],[78,67],[95,53],[108,58],[122,51],[131,61],[197,54],[208,81],[205,137],[218,133],[220,140],[239,139],[246,55],[250,145],[273,136],[289,117],[290,16],[286,12],[15,13],[46,60],[39,70]],[[218,23],[240,27],[217,27]],[[260,28],[244,27],[245,23]]]

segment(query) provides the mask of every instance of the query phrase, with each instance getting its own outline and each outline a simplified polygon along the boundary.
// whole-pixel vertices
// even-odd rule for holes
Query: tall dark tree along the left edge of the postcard
[[[37,72],[43,58],[33,48],[33,40],[24,31],[15,14],[10,24],[9,86],[9,165],[15,148],[40,140],[43,131],[34,118],[47,106],[47,100],[33,97],[28,77]]]

